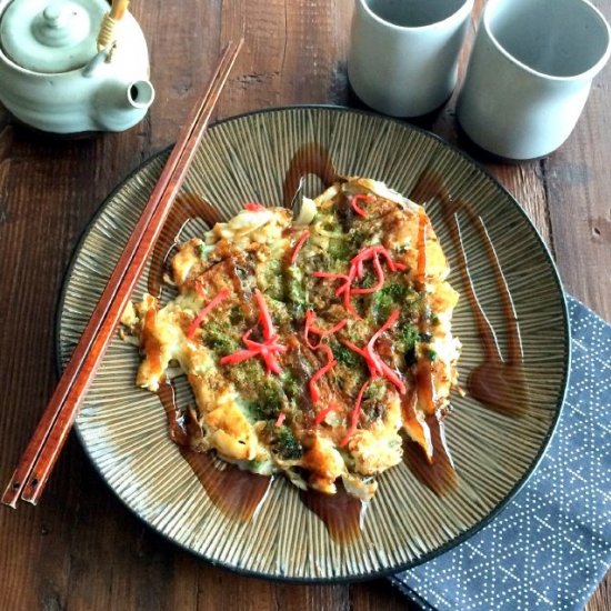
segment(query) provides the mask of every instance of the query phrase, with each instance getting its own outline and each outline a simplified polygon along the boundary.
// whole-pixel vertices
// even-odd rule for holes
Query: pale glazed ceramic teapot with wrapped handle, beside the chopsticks
[[[54,133],[122,131],[154,98],[129,0],[0,0],[0,101]]]

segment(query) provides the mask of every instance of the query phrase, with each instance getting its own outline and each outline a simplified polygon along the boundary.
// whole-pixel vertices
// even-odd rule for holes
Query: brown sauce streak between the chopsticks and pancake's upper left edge
[[[219,211],[196,193],[181,193],[177,197],[161,233],[154,244],[147,290],[153,297],[161,297],[166,262],[177,244],[182,228],[191,219],[203,219],[208,227],[222,220]]]

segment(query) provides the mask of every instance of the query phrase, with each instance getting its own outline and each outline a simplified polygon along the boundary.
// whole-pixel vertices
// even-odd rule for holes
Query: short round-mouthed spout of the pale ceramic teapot
[[[103,130],[123,131],[144,118],[153,100],[154,88],[147,79],[107,81],[96,99],[96,121]]]

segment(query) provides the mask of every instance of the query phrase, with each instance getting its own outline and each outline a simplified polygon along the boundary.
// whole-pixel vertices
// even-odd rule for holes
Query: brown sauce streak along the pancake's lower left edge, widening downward
[[[196,452],[189,447],[198,434],[199,425],[176,404],[174,388],[167,382],[159,388],[158,397],[166,409],[170,437],[178,444],[182,458],[198,477],[214,505],[228,518],[248,522],[263,503],[272,478],[242,471],[234,464],[220,470],[210,452]]]

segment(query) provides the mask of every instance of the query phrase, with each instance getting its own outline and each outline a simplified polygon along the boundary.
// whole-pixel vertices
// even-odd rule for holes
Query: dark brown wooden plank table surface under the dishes
[[[482,0],[475,2],[475,14]],[[611,17],[611,0],[594,0]],[[345,57],[353,0],[134,0],[157,100],[124,133],[54,139],[0,107],[0,483],[8,481],[57,381],[53,321],[81,232],[113,187],[174,141],[223,41],[246,48],[217,117],[270,106],[353,104]],[[472,41],[461,58],[464,67]],[[462,73],[463,70],[461,70]],[[0,83],[0,87],[4,87]],[[524,206],[565,289],[611,320],[611,69],[551,157],[491,162],[457,134],[453,100],[420,124],[483,162]],[[39,507],[0,509],[0,609],[405,609],[384,581],[287,585],[239,577],[174,548],[107,488],[72,437]],[[611,608],[611,574],[589,603]]]

